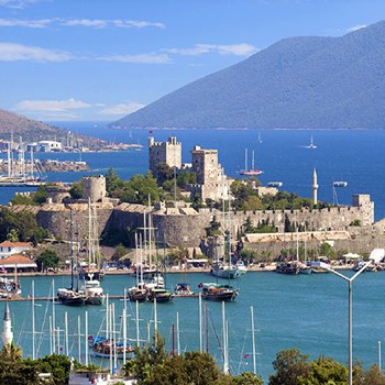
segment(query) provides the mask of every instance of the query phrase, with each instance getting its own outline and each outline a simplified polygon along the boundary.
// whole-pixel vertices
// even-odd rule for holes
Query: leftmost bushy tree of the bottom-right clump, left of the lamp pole
[[[273,362],[275,374],[268,378],[268,385],[298,385],[307,378],[310,371],[309,355],[301,354],[298,349],[288,349],[276,354]]]

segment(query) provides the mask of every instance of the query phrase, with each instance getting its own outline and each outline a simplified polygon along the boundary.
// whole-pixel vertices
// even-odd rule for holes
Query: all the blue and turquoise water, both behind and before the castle
[[[123,179],[135,174],[144,174],[148,167],[147,140],[165,141],[176,136],[183,145],[183,162],[190,163],[190,151],[195,145],[218,150],[219,162],[224,173],[239,177],[239,170],[251,167],[251,154],[255,155],[255,168],[263,170],[258,176],[262,184],[282,182],[282,190],[311,197],[314,168],[318,174],[319,200],[338,205],[351,205],[353,194],[370,194],[375,205],[375,220],[385,215],[383,177],[385,165],[384,130],[110,130],[103,122],[52,122],[57,127],[87,135],[101,138],[111,143],[139,143],[142,151],[116,153],[52,153],[37,157],[52,160],[85,161],[90,166],[87,173],[52,173],[48,180],[74,182],[85,175],[106,174],[112,167]],[[310,141],[317,148],[308,148]],[[2,154],[6,157],[6,154]],[[348,182],[346,187],[333,188],[333,182]],[[0,204],[6,205],[15,191],[29,190],[20,187],[0,188]],[[348,272],[346,274],[350,274]],[[188,282],[198,290],[201,282],[212,280],[209,274],[167,274],[167,285],[175,287],[178,282]],[[32,280],[36,296],[52,295],[52,277],[22,277],[23,296],[31,294]],[[68,276],[54,278],[55,288],[67,287]],[[134,277],[129,274],[106,276],[105,292],[110,295],[122,294],[124,287],[133,285]],[[253,346],[251,328],[251,307],[254,314],[254,336],[256,341],[257,373],[266,381],[273,373],[275,354],[284,349],[298,348],[301,353],[316,359],[318,355],[333,356],[348,362],[348,283],[333,274],[312,274],[285,276],[276,273],[248,273],[233,282],[240,288],[234,302],[226,304],[226,318],[229,330],[230,370],[233,374],[253,370]],[[353,284],[353,355],[367,367],[378,363],[380,346],[385,327],[385,272],[363,273]],[[123,301],[114,300],[117,323],[121,321]],[[197,298],[175,298],[172,304],[157,305],[157,327],[172,345],[172,324],[179,318],[180,349],[199,350],[199,306]],[[70,352],[84,360],[85,348],[78,344],[77,322],[81,322],[85,334],[85,311],[88,311],[90,334],[103,332],[103,306],[70,308],[55,305],[56,324],[59,328],[59,349],[64,351],[64,314],[68,312],[68,334]],[[32,354],[32,308],[30,302],[11,302],[13,331],[24,355]],[[135,309],[128,302],[130,316],[129,333],[135,338]],[[221,304],[207,302],[207,323],[205,327],[205,350],[208,346],[219,365],[222,358],[222,307]],[[50,353],[48,324],[52,318],[52,304],[38,301],[36,315],[37,355]],[[154,307],[140,305],[141,340],[148,339],[154,330]],[[208,332],[206,332],[208,330]],[[150,332],[148,332],[150,331]],[[208,336],[208,343],[206,343]],[[86,341],[87,336],[82,336]],[[143,343],[143,341],[141,343]],[[134,342],[133,342],[134,343]],[[80,349],[80,353],[79,353]],[[91,360],[96,360],[91,358]],[[97,361],[100,363],[99,361]],[[107,365],[101,362],[101,365]]]

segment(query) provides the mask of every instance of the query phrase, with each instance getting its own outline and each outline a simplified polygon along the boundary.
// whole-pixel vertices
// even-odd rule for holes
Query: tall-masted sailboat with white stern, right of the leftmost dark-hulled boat
[[[92,216],[91,201],[88,198],[88,266],[81,270],[84,284],[81,290],[86,295],[87,305],[101,305],[105,301],[103,288],[100,285],[99,241],[97,241],[96,216]]]

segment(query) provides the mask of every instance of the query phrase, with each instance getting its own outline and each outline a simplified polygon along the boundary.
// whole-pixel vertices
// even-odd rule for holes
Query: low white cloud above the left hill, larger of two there
[[[15,106],[19,111],[38,111],[38,112],[69,112],[70,110],[79,110],[92,107],[91,105],[76,100],[74,98],[67,100],[22,100]]]

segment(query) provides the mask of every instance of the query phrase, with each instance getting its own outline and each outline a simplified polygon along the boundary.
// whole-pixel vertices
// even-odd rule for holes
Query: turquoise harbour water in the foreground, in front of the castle
[[[351,275],[350,272],[344,273]],[[367,367],[377,363],[377,343],[383,338],[385,328],[385,272],[364,273],[353,284],[353,355]],[[31,293],[32,280],[35,296],[52,294],[52,280],[55,290],[69,285],[68,276],[21,277],[23,295]],[[166,284],[175,287],[178,282],[188,282],[197,292],[200,282],[212,282],[209,274],[190,273],[167,274]],[[124,287],[134,283],[132,275],[107,275],[102,283],[105,292],[110,295],[122,295]],[[310,359],[319,354],[333,356],[341,363],[348,361],[348,283],[333,274],[312,274],[285,276],[274,272],[249,272],[244,277],[232,282],[240,288],[240,296],[233,302],[226,304],[229,323],[229,355],[232,373],[252,371],[252,332],[250,307],[254,308],[256,364],[257,372],[265,378],[273,372],[272,362],[275,354],[284,349],[298,348]],[[121,321],[123,301],[116,304],[117,323]],[[36,349],[38,356],[50,353],[48,326],[52,316],[52,302],[37,301],[35,307]],[[172,304],[157,305],[158,330],[172,348],[172,323],[176,324],[179,315],[180,346],[183,351],[199,350],[199,309],[198,298],[174,298]],[[204,301],[205,306],[205,301]],[[222,365],[221,304],[207,302],[209,320],[209,352]],[[32,354],[32,310],[31,302],[10,302],[14,339],[24,351],[24,356]],[[135,306],[128,302],[129,337],[135,339]],[[61,329],[61,352],[64,353],[64,314],[69,319],[69,355],[78,358],[77,318],[81,319],[81,333],[85,332],[85,311],[88,311],[89,333],[98,334],[105,317],[103,306],[72,308],[55,305],[56,327]],[[140,334],[147,339],[147,327],[154,331],[154,307],[152,304],[140,304]],[[119,329],[119,327],[117,327]],[[81,338],[82,343],[85,337]],[[204,337],[206,349],[206,337]],[[133,342],[134,343],[134,342]],[[84,360],[85,346],[81,345]],[[108,362],[91,361],[108,367]]]

